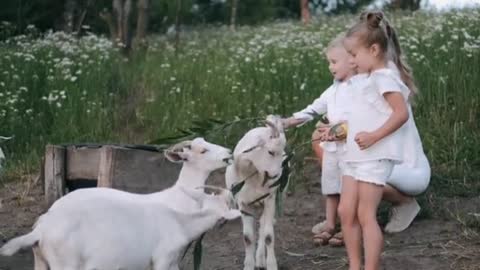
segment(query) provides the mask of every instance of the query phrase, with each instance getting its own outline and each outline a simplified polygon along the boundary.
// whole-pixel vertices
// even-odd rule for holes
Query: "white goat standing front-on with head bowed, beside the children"
[[[253,270],[255,267],[277,269],[273,225],[278,185],[272,187],[272,184],[282,174],[286,139],[279,118],[268,116],[266,124],[267,127],[254,128],[240,139],[233,151],[234,163],[227,167],[225,174],[227,188],[245,181],[236,195],[242,212],[244,270]],[[263,203],[263,212],[255,254],[255,219],[251,213],[252,203],[256,201]]]

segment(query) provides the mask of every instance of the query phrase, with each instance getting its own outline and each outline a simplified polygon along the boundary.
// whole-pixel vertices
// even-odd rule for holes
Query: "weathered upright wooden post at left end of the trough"
[[[65,148],[47,145],[45,152],[45,200],[50,207],[65,193]]]

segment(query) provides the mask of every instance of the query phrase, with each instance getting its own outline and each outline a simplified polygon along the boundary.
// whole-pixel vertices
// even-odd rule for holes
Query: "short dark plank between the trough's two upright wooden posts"
[[[92,179],[98,177],[101,148],[67,147],[66,179]]]

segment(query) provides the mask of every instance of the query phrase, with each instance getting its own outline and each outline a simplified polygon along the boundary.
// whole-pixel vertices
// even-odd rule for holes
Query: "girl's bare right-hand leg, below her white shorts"
[[[362,228],[365,270],[378,270],[383,249],[382,230],[377,222],[377,208],[382,200],[383,186],[358,182],[358,220]]]

